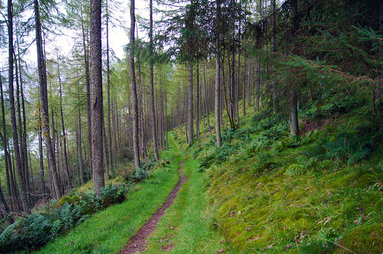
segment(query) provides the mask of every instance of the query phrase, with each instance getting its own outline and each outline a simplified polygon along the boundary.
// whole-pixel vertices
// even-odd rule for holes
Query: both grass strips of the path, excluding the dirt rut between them
[[[170,165],[155,169],[153,177],[136,185],[122,204],[93,215],[33,253],[118,253],[165,202],[179,181],[179,163],[186,159],[182,173],[187,181],[149,236],[145,253],[234,253],[217,232],[207,202],[208,174],[198,172],[198,161],[188,159],[173,136],[169,141],[171,149],[162,158]]]

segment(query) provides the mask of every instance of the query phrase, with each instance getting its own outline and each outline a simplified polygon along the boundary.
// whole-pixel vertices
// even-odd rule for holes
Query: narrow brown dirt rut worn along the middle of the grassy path
[[[138,230],[137,235],[135,235],[132,239],[130,239],[130,241],[125,246],[125,248],[119,252],[120,254],[135,254],[138,251],[145,250],[145,245],[146,245],[148,236],[155,231],[159,219],[165,214],[166,209],[173,204],[174,199],[176,199],[178,191],[181,188],[181,185],[186,181],[186,177],[183,176],[181,173],[182,167],[183,167],[183,164],[180,163],[180,168],[178,169],[178,173],[180,175],[180,181],[178,182],[177,186],[174,187],[174,189],[169,194],[169,196],[167,196],[166,201],[152,215],[152,217],[150,217],[148,222]]]

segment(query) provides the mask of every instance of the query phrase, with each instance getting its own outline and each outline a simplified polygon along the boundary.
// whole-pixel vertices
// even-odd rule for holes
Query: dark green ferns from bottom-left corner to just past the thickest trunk
[[[125,184],[109,184],[102,190],[101,198],[95,197],[93,192],[64,196],[60,200],[61,208],[31,214],[7,227],[0,235],[0,248],[6,251],[39,248],[85,221],[91,214],[124,201],[126,189]]]

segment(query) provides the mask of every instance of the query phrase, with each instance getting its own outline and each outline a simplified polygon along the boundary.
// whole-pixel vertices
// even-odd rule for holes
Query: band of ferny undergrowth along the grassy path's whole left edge
[[[0,223],[3,228],[0,234],[0,251],[38,249],[67,234],[71,228],[83,223],[94,213],[123,202],[128,190],[147,179],[155,164],[154,158],[148,158],[137,170],[128,168],[123,174],[119,172],[119,176],[107,182],[100,198],[95,196],[93,181],[89,181],[77,190],[71,190],[58,202],[53,199],[45,202],[27,218],[18,219],[9,226]]]

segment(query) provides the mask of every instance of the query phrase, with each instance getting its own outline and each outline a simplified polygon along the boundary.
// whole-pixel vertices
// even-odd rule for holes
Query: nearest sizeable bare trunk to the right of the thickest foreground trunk
[[[138,104],[137,104],[137,88],[136,74],[134,70],[134,28],[136,17],[134,14],[134,0],[130,0],[130,50],[129,50],[129,70],[130,70],[130,86],[132,90],[133,103],[133,154],[134,165],[136,169],[140,167],[139,146],[138,146]]]

